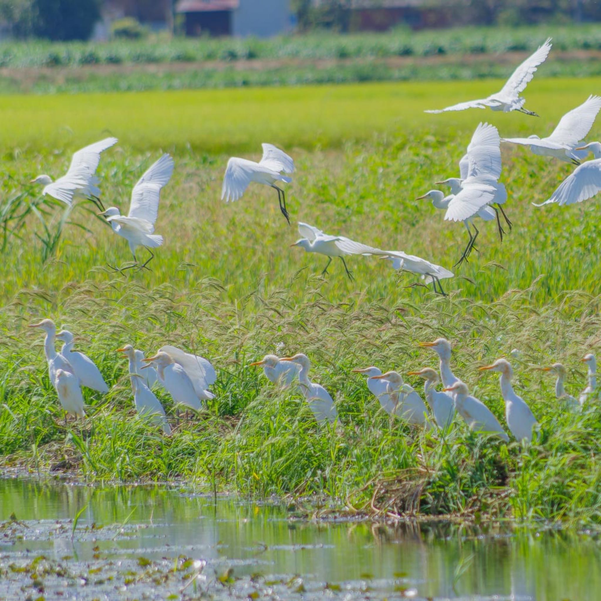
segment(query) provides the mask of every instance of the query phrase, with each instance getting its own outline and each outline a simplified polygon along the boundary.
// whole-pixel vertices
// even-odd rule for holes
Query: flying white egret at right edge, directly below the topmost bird
[[[590,132],[599,109],[601,96],[591,94],[580,106],[561,117],[557,127],[546,138],[531,135],[528,138],[502,138],[501,142],[529,146],[530,150],[539,156],[554,156],[567,163],[579,165],[588,152],[576,150],[576,147]]]

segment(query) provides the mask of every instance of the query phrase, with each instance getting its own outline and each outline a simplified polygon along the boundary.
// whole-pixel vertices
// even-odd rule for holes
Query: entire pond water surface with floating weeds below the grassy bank
[[[24,479],[0,480],[0,521],[0,599],[32,581],[45,599],[601,599],[599,532],[542,524],[311,522],[178,487]],[[46,581],[19,571],[40,556]],[[186,558],[207,564],[182,591],[201,566]]]

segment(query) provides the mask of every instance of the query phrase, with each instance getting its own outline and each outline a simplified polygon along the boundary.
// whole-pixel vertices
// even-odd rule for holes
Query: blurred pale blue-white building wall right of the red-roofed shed
[[[291,28],[290,0],[240,0],[232,15],[232,33],[243,37],[270,37]]]

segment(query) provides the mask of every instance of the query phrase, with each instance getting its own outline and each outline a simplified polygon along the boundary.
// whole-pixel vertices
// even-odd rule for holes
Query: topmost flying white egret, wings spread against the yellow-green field
[[[536,52],[528,56],[522,64],[513,72],[513,75],[507,80],[507,83],[502,87],[501,91],[496,94],[491,94],[489,97],[481,100],[469,100],[468,102],[460,102],[457,105],[447,106],[444,109],[435,109],[424,111],[429,113],[441,113],[446,111],[465,111],[465,109],[483,109],[487,106],[493,111],[520,111],[526,115],[534,115],[535,112],[528,111],[523,108],[525,99],[520,98],[520,94],[526,89],[526,85],[534,77],[537,67],[544,63],[547,55],[551,50],[551,38],[547,38],[545,43],[540,46]]]

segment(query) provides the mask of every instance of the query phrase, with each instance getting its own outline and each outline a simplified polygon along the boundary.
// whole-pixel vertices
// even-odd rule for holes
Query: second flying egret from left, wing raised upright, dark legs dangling
[[[127,240],[136,264],[138,246],[144,246],[150,252],[150,257],[139,266],[139,269],[144,269],[153,260],[154,253],[150,249],[157,248],[163,243],[162,236],[153,234],[154,223],[159,213],[160,189],[166,186],[172,173],[173,159],[169,154],[163,154],[133,186],[132,203],[127,215],[121,215],[117,207],[109,207],[105,212],[100,213],[111,224],[115,234]]]

